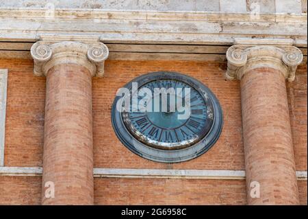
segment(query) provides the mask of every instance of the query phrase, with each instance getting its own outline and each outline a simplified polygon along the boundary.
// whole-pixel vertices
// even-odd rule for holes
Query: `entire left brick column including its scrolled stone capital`
[[[93,205],[92,76],[107,54],[99,42],[31,47],[34,73],[47,77],[42,205]]]

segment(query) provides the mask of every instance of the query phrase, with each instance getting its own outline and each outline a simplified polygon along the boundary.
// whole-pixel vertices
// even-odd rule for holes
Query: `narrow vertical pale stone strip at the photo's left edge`
[[[0,166],[4,165],[4,136],[8,69],[0,69]]]

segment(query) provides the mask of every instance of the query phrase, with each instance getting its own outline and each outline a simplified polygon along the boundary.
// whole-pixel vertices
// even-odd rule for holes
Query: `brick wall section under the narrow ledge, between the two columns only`
[[[216,180],[204,179],[96,178],[94,203],[96,205],[245,205],[246,183],[243,180],[220,180],[218,183]]]

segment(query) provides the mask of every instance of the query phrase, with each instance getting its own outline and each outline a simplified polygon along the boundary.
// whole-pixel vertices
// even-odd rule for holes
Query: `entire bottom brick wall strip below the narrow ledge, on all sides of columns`
[[[41,181],[38,176],[0,176],[0,205],[40,205]],[[298,181],[298,190],[300,204],[307,205],[307,181]],[[244,205],[245,191],[241,180],[95,178],[94,204]]]

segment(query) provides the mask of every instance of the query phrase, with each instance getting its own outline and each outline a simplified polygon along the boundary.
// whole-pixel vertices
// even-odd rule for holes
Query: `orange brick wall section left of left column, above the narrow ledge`
[[[33,76],[33,60],[0,60],[8,69],[6,166],[42,166],[45,78]]]

